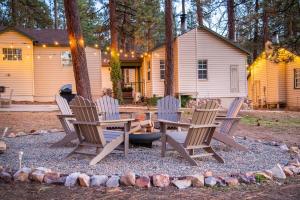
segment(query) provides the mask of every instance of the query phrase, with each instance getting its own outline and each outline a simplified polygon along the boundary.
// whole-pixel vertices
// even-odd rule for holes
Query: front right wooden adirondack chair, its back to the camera
[[[215,101],[209,101],[196,109],[191,124],[176,123],[167,120],[159,120],[162,132],[162,151],[165,156],[166,144],[171,145],[181,156],[187,159],[192,165],[197,166],[194,158],[213,156],[217,161],[224,163],[224,160],[213,150],[210,145],[216,127],[215,118],[217,117],[219,105]],[[189,128],[188,132],[170,131],[167,126],[178,126]],[[202,149],[208,153],[195,155],[195,149]]]

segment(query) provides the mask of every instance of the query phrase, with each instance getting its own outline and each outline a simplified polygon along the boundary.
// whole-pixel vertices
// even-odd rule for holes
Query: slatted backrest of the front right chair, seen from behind
[[[216,101],[208,101],[206,104],[201,105],[194,111],[191,125],[211,125],[214,124],[218,114],[219,104]],[[205,127],[197,128],[191,127],[188,130],[184,147],[195,147],[199,145],[209,145],[213,136],[215,128]]]

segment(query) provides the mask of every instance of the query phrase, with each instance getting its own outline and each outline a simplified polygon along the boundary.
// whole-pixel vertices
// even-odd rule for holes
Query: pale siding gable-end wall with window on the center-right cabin
[[[247,55],[205,30],[194,29],[178,38],[179,92],[199,98],[246,97]],[[208,79],[198,80],[197,61],[208,62]],[[239,92],[230,91],[230,65],[238,65]]]

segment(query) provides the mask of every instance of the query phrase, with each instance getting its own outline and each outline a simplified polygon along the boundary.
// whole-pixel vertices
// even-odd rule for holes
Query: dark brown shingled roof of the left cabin
[[[59,46],[69,46],[67,30],[62,29],[29,29],[23,27],[0,26],[0,34],[7,31],[16,31],[33,41],[35,45],[53,45],[57,42]]]

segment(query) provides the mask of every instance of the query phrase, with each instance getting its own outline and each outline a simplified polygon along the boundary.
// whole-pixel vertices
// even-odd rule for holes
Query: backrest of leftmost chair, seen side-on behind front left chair
[[[68,101],[59,96],[59,95],[55,95],[55,101],[57,103],[57,106],[61,112],[61,114],[63,115],[72,115],[73,112],[68,104]],[[74,126],[71,122],[69,122],[69,120],[64,120],[65,124],[63,124],[64,129],[66,132],[73,132],[74,131]]]

